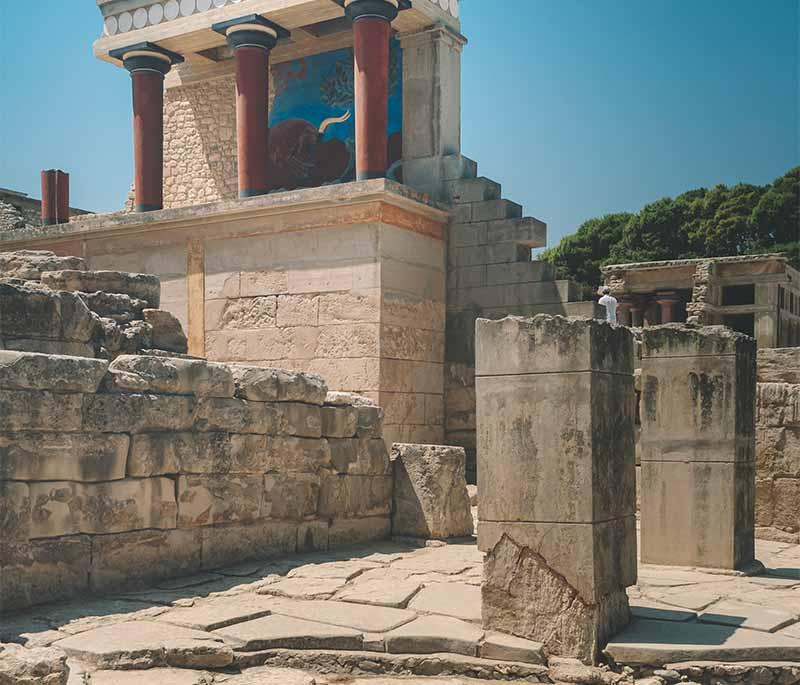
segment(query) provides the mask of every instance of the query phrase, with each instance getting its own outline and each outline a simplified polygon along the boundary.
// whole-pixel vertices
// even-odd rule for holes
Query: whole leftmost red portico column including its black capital
[[[164,206],[164,76],[183,57],[153,43],[112,50],[131,73],[133,84],[134,209]]]

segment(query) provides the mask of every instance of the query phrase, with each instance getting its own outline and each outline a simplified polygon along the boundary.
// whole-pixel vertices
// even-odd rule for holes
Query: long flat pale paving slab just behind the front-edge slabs
[[[405,609],[365,606],[350,602],[300,601],[281,598],[273,600],[272,613],[353,628],[367,633],[386,633],[417,617],[413,611]]]

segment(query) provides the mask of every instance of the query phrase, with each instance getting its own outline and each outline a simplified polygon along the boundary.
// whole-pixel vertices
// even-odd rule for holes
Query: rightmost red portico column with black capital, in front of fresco
[[[389,122],[389,39],[400,3],[344,0],[344,7],[353,22],[356,180],[384,178]]]

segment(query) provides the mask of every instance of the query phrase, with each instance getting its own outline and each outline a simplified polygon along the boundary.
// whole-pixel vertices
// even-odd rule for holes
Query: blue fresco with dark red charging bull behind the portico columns
[[[402,181],[402,51],[389,66],[389,178]],[[269,179],[272,190],[355,179],[352,49],[278,64],[272,70]]]

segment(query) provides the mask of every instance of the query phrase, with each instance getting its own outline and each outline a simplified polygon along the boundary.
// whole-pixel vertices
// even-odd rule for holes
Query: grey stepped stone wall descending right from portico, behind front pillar
[[[445,158],[443,200],[453,206],[447,265],[445,442],[467,452],[475,482],[475,320],[508,315],[598,316],[580,289],[556,280],[550,264],[531,250],[547,244],[547,226],[523,216],[503,198],[502,186],[478,176],[466,157]]]

